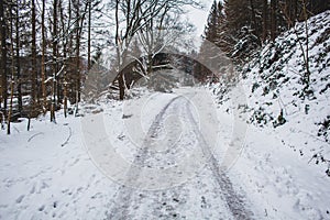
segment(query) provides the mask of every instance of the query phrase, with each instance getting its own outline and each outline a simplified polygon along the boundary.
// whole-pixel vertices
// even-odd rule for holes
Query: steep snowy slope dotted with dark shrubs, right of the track
[[[240,108],[249,123],[276,132],[286,147],[330,176],[330,11],[308,21],[310,80],[305,80],[306,29],[298,23],[245,64],[240,80],[248,103]],[[232,94],[222,95],[221,102]],[[226,101],[224,101],[226,102]]]

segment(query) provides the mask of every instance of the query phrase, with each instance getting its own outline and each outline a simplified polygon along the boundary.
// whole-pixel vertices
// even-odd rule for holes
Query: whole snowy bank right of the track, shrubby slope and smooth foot
[[[307,90],[305,23],[243,67],[246,103],[233,103],[233,91],[223,96],[223,85],[212,87],[219,110],[239,110],[249,123],[230,174],[265,219],[330,219],[330,11],[308,21],[308,35]]]

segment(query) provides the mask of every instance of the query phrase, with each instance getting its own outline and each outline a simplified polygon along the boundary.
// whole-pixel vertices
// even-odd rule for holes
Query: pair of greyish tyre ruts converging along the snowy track
[[[176,100],[179,100],[179,99],[184,99],[184,101],[178,105],[184,105],[184,111],[186,112],[185,116],[187,117],[188,121],[193,125],[191,128],[194,130],[194,133],[197,136],[197,141],[199,143],[198,145],[199,145],[199,147],[201,147],[201,152],[206,157],[206,164],[211,169],[211,172],[213,174],[213,178],[218,185],[218,187],[216,187],[216,191],[218,191],[220,195],[222,195],[222,199],[226,200],[224,204],[227,205],[227,209],[228,209],[228,211],[230,211],[232,213],[234,219],[252,219],[253,213],[250,210],[245,209],[243,196],[235,193],[235,190],[233,189],[232,183],[230,182],[229,177],[226,175],[224,170],[222,170],[219,167],[217,160],[215,158],[204,135],[199,131],[199,127],[191,113],[191,109],[190,109],[191,103],[189,102],[189,100],[187,98],[185,98],[183,96],[173,98],[162,109],[162,111],[155,117],[151,128],[147,131],[147,134],[143,142],[144,143],[143,146],[136,153],[133,164],[136,164],[142,167],[145,165],[145,162],[147,160],[148,147],[152,144],[152,139],[157,136],[158,129],[162,125],[162,122],[164,121],[164,116],[165,116],[166,111],[168,110],[168,108]],[[177,109],[177,107],[176,107],[176,109]],[[132,182],[134,179],[138,179],[140,176],[141,176],[141,174],[139,172],[136,173],[135,168],[132,168],[128,172],[127,180]],[[185,195],[182,195],[182,194],[185,194]],[[189,194],[189,191],[185,191],[185,190],[182,191],[182,190],[176,189],[173,191],[168,190],[166,194],[164,194],[164,193],[162,194],[162,191],[153,191],[148,196],[152,196],[152,199],[157,201],[157,199],[158,199],[157,197],[160,197],[160,195],[162,195],[162,197],[164,197],[164,195],[166,195],[165,197],[168,197],[168,198],[162,198],[162,200],[164,200],[164,199],[170,200],[172,197],[186,198],[187,194]],[[143,204],[142,202],[143,199],[144,199],[144,196],[143,196],[143,194],[139,194],[139,188],[134,189],[134,188],[128,187],[125,185],[121,186],[119,191],[117,193],[116,199],[113,201],[113,205],[112,205],[110,211],[107,213],[107,216],[108,216],[107,218],[108,219],[133,219],[133,216],[130,216],[130,215],[132,215],[132,213],[130,213],[130,211],[131,211],[131,209],[138,209],[138,207]],[[175,206],[175,205],[173,205],[173,206]],[[179,210],[176,210],[176,207],[173,207],[173,206],[169,208],[175,211],[179,211]],[[152,209],[152,207],[151,207],[151,209]],[[160,211],[153,210],[152,212],[154,213],[154,212],[160,212]]]

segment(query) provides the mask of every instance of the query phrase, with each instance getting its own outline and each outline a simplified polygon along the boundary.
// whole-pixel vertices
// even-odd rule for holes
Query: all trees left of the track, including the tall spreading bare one
[[[105,46],[116,52],[108,68],[114,69],[112,84],[119,85],[123,99],[130,79],[122,68],[141,61],[129,50],[134,44],[143,48],[147,58],[136,73],[145,77],[155,56],[187,32],[177,16],[187,4],[200,7],[198,0],[1,0],[2,127],[7,123],[10,133],[10,122],[19,118],[29,119],[29,129],[30,119],[46,112],[53,122],[59,109],[65,117],[77,113],[81,95],[95,99],[90,92],[100,92],[94,78],[105,85],[107,69],[100,65]],[[92,80],[86,82],[88,78]]]

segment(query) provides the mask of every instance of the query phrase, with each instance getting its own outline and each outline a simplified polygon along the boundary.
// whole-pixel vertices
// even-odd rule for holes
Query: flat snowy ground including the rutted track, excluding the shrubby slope
[[[237,119],[226,105],[217,109],[205,102],[205,92],[184,88],[174,94],[146,92],[124,102],[108,100],[86,106],[82,118],[65,119],[58,113],[57,124],[46,118],[35,120],[30,132],[25,121],[13,124],[12,135],[0,134],[0,219],[330,219],[329,177],[283,147],[271,129],[250,124],[234,163],[229,169],[222,166],[235,138]],[[133,111],[132,105],[141,111]],[[215,148],[208,147],[208,138],[207,144],[201,140],[208,134],[196,130],[207,127],[198,121],[206,107],[217,109]],[[99,136],[100,128],[92,127],[98,116],[103,117],[106,139]],[[148,148],[139,145],[139,136],[130,136],[135,117],[142,133],[153,135],[144,142]],[[86,133],[91,131],[94,139]],[[125,175],[110,176],[111,170],[90,152],[92,141],[111,143],[124,162],[139,165],[138,174],[129,168]],[[191,152],[198,163],[164,175]],[[143,175],[151,167],[158,170],[158,180]],[[122,176],[127,179],[117,178]]]

